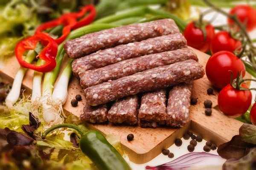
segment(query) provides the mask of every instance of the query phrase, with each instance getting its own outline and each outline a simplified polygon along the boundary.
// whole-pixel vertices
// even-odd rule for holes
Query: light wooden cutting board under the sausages
[[[205,66],[209,55],[195,49],[193,50],[198,55],[199,63]],[[67,57],[64,58],[64,62],[67,62]],[[65,64],[62,66],[64,67]],[[10,57],[5,68],[0,70],[0,77],[2,77],[3,81],[12,84],[18,68],[19,64],[15,56]],[[248,78],[250,75],[247,73],[246,77]],[[23,79],[23,87],[26,89],[26,93],[32,92],[32,80],[33,71],[29,70]],[[208,88],[213,88],[215,95],[208,95]],[[143,164],[159,155],[164,148],[168,148],[174,144],[176,138],[182,138],[183,134],[188,130],[191,130],[196,135],[203,136],[205,140],[211,140],[217,146],[229,141],[234,135],[239,134],[239,127],[243,124],[242,122],[224,116],[215,109],[212,109],[211,116],[204,114],[204,101],[206,99],[212,100],[213,108],[216,108],[218,93],[219,90],[212,87],[206,75],[202,79],[196,80],[194,82],[192,97],[198,98],[198,102],[196,105],[191,106],[191,121],[182,128],[141,128],[139,126],[111,125],[110,123],[102,125],[85,124],[90,129],[97,129],[105,134],[113,133],[119,136],[122,149],[128,154],[130,160],[137,164]],[[76,94],[81,94],[83,100],[74,108],[70,105],[70,102],[75,98]],[[83,90],[79,85],[79,81],[75,77],[72,77],[68,88],[68,99],[63,108],[69,113],[80,116],[84,105]],[[134,134],[134,140],[128,142],[126,137],[130,133]]]

